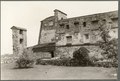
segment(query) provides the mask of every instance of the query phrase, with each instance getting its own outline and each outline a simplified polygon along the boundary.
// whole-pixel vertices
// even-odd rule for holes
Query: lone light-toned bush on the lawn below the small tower
[[[27,50],[24,50],[23,54],[16,61],[16,68],[31,68],[34,65],[35,60],[30,58]]]

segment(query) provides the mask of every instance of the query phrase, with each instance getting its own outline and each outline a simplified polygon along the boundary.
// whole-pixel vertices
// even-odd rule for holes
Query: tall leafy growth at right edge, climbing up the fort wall
[[[101,49],[104,50],[104,52],[102,53],[102,55],[104,55],[104,58],[107,60],[112,60],[110,63],[105,63],[105,64],[101,64],[101,65],[108,65],[108,66],[114,66],[117,67],[118,66],[118,54],[117,54],[117,50],[118,50],[118,40],[117,39],[111,39],[110,35],[109,35],[109,31],[110,31],[110,27],[105,26],[105,23],[103,23],[100,27],[100,36],[102,38],[102,41],[98,41],[98,45]]]

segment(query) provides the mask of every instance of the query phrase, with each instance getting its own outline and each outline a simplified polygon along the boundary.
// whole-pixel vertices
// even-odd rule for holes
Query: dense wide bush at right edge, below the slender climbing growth
[[[110,41],[104,43],[98,42],[100,48],[104,50],[103,54],[105,60],[111,60],[108,64],[101,63],[103,67],[118,67],[118,40],[111,39]]]

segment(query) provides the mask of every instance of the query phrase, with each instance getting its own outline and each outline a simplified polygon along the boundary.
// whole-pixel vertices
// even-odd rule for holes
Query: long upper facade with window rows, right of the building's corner
[[[105,20],[105,23],[103,23],[103,20]],[[115,34],[117,37],[117,11],[59,20],[56,29],[56,45],[66,45],[66,36],[72,36],[73,45],[84,43],[96,43],[96,41],[101,40],[100,32],[98,30],[98,27],[100,27],[101,24],[103,24],[103,26],[106,28],[109,27],[111,30],[114,30],[114,32],[110,32],[111,37],[113,37],[113,35]],[[85,34],[89,35],[88,39],[86,39]]]

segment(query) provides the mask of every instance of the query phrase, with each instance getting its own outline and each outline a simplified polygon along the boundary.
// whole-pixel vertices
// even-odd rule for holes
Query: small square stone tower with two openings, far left
[[[12,40],[13,40],[13,54],[21,55],[23,50],[27,47],[27,30],[24,28],[13,26]]]

